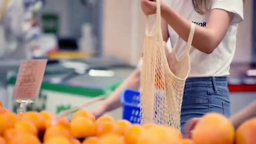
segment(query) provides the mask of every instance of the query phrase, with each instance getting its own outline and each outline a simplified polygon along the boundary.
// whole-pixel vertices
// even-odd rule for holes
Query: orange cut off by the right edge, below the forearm
[[[256,118],[245,121],[235,132],[235,144],[256,144]]]

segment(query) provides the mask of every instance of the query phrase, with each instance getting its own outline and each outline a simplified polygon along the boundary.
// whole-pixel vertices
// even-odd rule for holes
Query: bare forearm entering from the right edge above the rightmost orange
[[[230,121],[233,123],[235,128],[238,128],[243,122],[253,117],[256,117],[256,101],[249,104],[236,115],[230,117]]]

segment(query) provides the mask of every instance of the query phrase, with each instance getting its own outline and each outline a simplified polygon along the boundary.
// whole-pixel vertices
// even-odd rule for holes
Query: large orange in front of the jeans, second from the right
[[[209,113],[195,126],[192,139],[195,144],[233,144],[235,128],[223,115]]]

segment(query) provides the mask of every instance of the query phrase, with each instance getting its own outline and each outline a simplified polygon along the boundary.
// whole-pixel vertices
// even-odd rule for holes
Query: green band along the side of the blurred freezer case
[[[16,83],[16,78],[14,77],[8,80],[8,84],[10,85],[15,85],[15,83]],[[49,91],[55,91],[60,93],[69,93],[69,94],[75,94],[78,96],[86,96],[86,97],[97,97],[100,95],[110,94],[109,92],[114,91],[121,83],[122,81],[114,83],[104,89],[93,89],[93,88],[81,88],[81,87],[75,87],[71,85],[61,85],[61,84],[43,82],[41,85],[41,90],[49,90]]]

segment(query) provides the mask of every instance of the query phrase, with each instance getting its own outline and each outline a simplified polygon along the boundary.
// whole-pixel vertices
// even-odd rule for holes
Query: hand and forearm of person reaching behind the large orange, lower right
[[[236,115],[233,115],[232,117],[230,117],[229,120],[232,122],[235,129],[237,129],[242,123],[244,123],[246,120],[249,120],[253,117],[256,117],[256,101],[253,101],[247,107],[245,107],[240,112],[238,112]],[[185,128],[185,133],[187,138],[191,138],[193,130],[199,120],[200,118],[192,118],[191,120],[189,120],[189,122],[187,122],[186,128]]]

